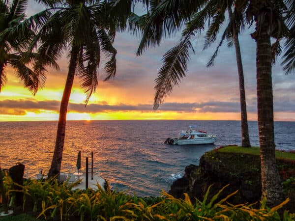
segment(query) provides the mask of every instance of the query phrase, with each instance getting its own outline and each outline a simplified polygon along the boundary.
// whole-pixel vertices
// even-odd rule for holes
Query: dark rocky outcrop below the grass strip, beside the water
[[[289,173],[289,176],[294,176],[295,162],[277,160],[277,165],[282,181],[289,178]],[[191,201],[195,201],[196,198],[202,201],[210,185],[212,186],[209,198],[229,184],[220,194],[220,198],[238,190],[228,202],[233,204],[259,202],[262,193],[260,167],[259,156],[213,150],[201,157],[199,166],[186,166],[184,176],[174,181],[169,193],[177,198],[182,198],[183,193],[188,193]],[[295,212],[295,190],[284,190],[284,193],[286,198],[291,199],[285,209]]]

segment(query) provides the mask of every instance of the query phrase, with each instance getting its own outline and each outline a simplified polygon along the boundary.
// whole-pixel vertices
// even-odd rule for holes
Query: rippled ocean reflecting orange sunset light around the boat
[[[25,177],[47,172],[54,151],[57,121],[0,122],[0,165],[9,168],[20,162]],[[171,146],[164,144],[188,125],[217,135],[207,145]],[[259,146],[256,121],[249,121],[251,145]],[[91,161],[99,175],[114,190],[138,196],[160,195],[184,174],[185,166],[198,165],[200,157],[220,145],[240,145],[239,121],[196,120],[103,120],[68,121],[62,171],[75,171],[78,151]],[[275,122],[276,149],[295,150],[295,122]]]

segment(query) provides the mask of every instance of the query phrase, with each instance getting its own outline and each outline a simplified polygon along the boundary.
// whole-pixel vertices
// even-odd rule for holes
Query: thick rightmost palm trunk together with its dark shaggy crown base
[[[281,11],[286,6],[282,1],[252,0],[247,16],[255,21],[256,80],[258,129],[261,153],[262,192],[270,205],[282,200],[280,176],[275,161],[273,94],[271,79],[272,48],[270,38],[280,39],[286,35]]]

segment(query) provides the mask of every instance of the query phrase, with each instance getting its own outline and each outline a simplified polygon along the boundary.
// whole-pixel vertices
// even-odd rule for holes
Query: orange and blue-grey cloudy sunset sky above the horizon
[[[41,10],[29,0],[27,14]],[[141,9],[141,7],[138,10]],[[256,44],[246,29],[239,37],[248,120],[257,120],[256,96]],[[239,88],[234,48],[226,44],[219,50],[214,66],[206,64],[216,44],[203,51],[203,35],[196,35],[192,43],[195,54],[190,52],[186,77],[175,86],[157,111],[153,111],[154,80],[162,66],[164,53],[177,44],[179,34],[165,39],[160,47],[148,49],[136,56],[140,36],[127,32],[117,33],[117,74],[115,79],[104,82],[106,77],[102,61],[98,88],[85,107],[86,95],[76,78],[70,97],[68,120],[112,119],[185,119],[185,120],[240,120]],[[220,36],[219,36],[220,37]],[[60,70],[48,68],[45,87],[33,96],[7,67],[8,82],[0,93],[0,121],[58,120],[59,105],[66,80],[68,60],[59,61]],[[295,73],[285,75],[280,58],[272,68],[274,120],[295,121]]]

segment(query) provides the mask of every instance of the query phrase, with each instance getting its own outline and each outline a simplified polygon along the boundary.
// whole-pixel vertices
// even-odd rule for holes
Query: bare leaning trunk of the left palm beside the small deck
[[[78,53],[79,53],[79,48],[72,46],[69,70],[68,70],[68,74],[67,74],[63,94],[62,94],[62,99],[60,103],[59,124],[58,124],[56,145],[54,149],[51,166],[48,172],[48,177],[52,177],[60,173],[62,151],[63,151],[64,137],[65,137],[66,113],[67,113],[68,103],[69,103],[69,99],[71,95],[75,71],[76,71],[77,62],[78,62],[77,61]]]

